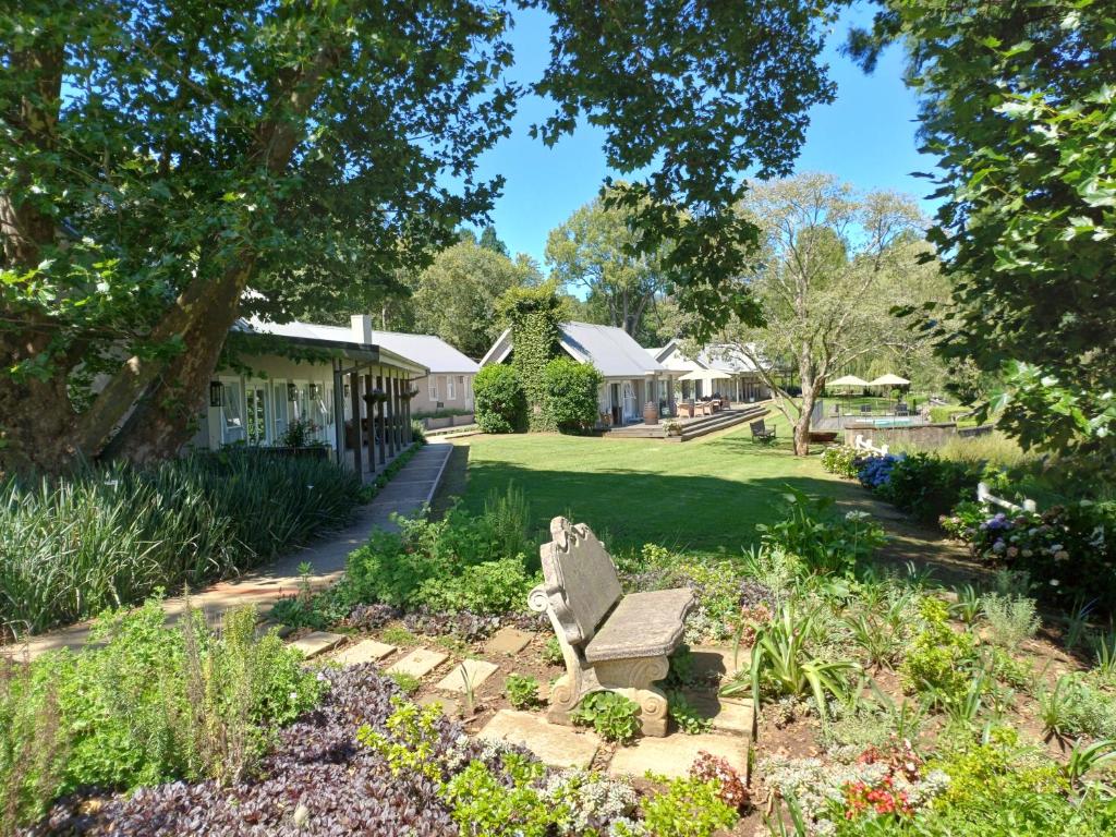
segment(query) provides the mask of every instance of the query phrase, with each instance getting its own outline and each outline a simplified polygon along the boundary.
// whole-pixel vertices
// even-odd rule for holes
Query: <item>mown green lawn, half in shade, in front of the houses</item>
[[[771,422],[771,419],[768,419]],[[821,470],[817,455],[796,458],[789,429],[776,417],[780,443],[756,444],[747,426],[681,444],[559,435],[471,436],[463,498],[481,510],[489,492],[521,487],[533,523],[552,517],[588,523],[613,549],[653,541],[715,555],[758,540],[756,525],[779,512],[780,493],[862,499],[863,489]]]

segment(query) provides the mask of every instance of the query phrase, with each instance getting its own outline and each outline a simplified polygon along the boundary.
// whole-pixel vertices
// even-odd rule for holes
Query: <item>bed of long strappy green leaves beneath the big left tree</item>
[[[37,633],[241,573],[343,525],[358,490],[328,461],[251,450],[0,480],[0,624]]]

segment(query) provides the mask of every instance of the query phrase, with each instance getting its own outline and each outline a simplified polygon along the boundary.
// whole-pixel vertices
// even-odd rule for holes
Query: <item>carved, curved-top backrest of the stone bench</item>
[[[550,521],[550,541],[539,549],[547,599],[570,645],[593,638],[622,596],[616,565],[585,523]]]

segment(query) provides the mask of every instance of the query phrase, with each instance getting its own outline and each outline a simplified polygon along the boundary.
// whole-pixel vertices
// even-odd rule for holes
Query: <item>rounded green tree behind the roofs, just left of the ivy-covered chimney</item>
[[[415,282],[411,307],[416,330],[435,334],[470,357],[481,357],[500,336],[497,302],[512,288],[539,285],[527,257],[512,261],[482,244],[462,241],[434,257]]]

